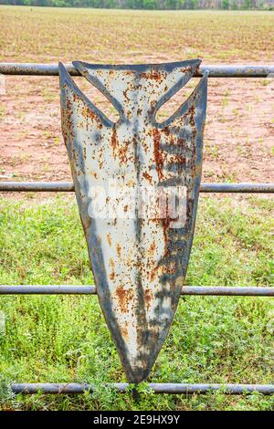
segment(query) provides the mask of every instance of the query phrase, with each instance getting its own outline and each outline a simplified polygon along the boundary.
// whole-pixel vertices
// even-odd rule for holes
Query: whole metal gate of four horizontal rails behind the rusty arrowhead
[[[66,66],[71,76],[80,76],[78,69]],[[195,77],[202,77],[208,70],[209,78],[267,78],[274,77],[274,67],[261,66],[206,66],[198,68]],[[0,63],[0,73],[6,75],[58,76],[57,65]],[[74,192],[73,183],[16,183],[1,182],[0,192]],[[274,193],[274,183],[201,183],[202,193]],[[0,294],[96,294],[93,286],[0,286]],[[185,286],[181,295],[261,296],[273,297],[274,288],[261,287],[196,287]],[[125,392],[128,383],[110,383],[118,392]],[[150,383],[155,393],[205,393],[221,391],[243,394],[274,393],[274,385],[263,384],[185,384]],[[92,391],[90,384],[78,383],[13,383],[13,392],[25,393],[82,393]]]

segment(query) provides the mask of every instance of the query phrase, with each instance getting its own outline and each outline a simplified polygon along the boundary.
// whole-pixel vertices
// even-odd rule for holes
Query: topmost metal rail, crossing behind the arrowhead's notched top
[[[80,76],[79,71],[71,64],[66,68],[71,76]],[[205,70],[209,71],[209,78],[268,78],[274,76],[274,66],[202,66],[195,77],[201,77]],[[58,76],[58,64],[37,63],[0,63],[0,73],[5,75],[28,76]]]

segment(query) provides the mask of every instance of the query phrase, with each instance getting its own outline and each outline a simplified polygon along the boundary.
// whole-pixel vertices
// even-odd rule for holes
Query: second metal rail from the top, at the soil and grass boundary
[[[72,182],[0,182],[0,192],[73,192]],[[201,183],[201,193],[274,194],[274,183]]]

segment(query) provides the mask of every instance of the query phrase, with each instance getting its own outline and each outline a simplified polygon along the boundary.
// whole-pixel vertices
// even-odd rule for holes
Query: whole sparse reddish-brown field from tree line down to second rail
[[[202,58],[209,64],[273,64],[271,12],[141,12],[0,7],[0,60],[146,63]],[[159,112],[167,117],[192,79]],[[110,117],[97,89],[81,89]],[[210,78],[204,182],[274,182],[274,79]],[[0,96],[0,180],[68,180],[57,77],[5,77]]]

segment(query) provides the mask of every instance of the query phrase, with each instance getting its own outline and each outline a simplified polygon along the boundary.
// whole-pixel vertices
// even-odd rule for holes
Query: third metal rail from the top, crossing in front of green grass
[[[1,285],[0,295],[95,295],[92,285]],[[274,288],[184,286],[181,295],[213,295],[234,297],[274,297]]]

